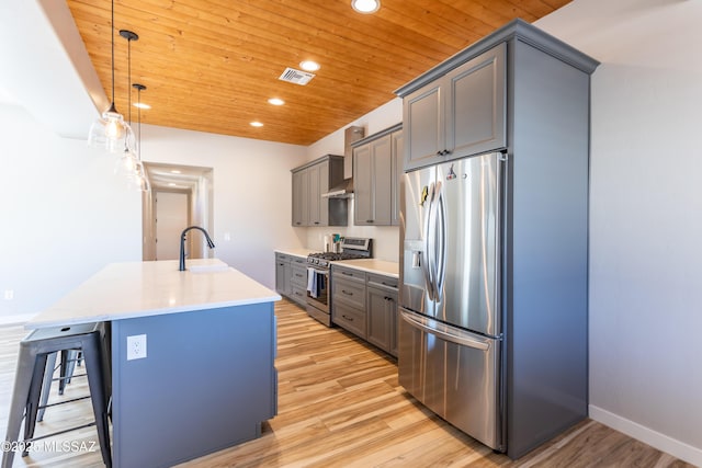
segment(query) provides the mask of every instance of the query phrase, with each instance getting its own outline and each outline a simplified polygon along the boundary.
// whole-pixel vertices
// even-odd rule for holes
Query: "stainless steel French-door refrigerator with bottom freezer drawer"
[[[405,174],[400,202],[399,383],[502,449],[499,152]]]

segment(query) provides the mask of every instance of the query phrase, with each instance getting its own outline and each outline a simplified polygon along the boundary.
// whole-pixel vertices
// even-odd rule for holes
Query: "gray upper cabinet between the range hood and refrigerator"
[[[353,144],[354,225],[397,224],[401,134],[398,124]]]

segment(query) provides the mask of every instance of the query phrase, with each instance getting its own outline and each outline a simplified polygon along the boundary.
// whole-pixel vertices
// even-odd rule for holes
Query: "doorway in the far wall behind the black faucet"
[[[143,260],[177,260],[180,233],[188,226],[200,226],[214,238],[212,168],[155,162],[144,167],[151,191],[143,197]],[[188,236],[185,251],[190,259],[212,255],[203,236]]]

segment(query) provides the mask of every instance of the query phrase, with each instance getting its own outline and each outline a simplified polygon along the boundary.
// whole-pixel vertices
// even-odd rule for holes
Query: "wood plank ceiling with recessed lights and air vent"
[[[306,146],[512,19],[533,22],[568,2],[382,0],[366,15],[350,0],[115,0],[115,103],[127,118],[128,96],[137,100],[118,35],[129,30],[139,36],[131,81],[151,105],[143,123]],[[67,3],[110,96],[111,1]],[[307,85],[279,80],[306,59],[321,65]]]

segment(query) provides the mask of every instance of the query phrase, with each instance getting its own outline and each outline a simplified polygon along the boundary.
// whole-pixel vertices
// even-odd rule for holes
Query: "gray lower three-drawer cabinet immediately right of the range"
[[[331,321],[365,340],[365,273],[332,265],[331,305]]]

